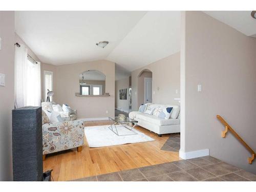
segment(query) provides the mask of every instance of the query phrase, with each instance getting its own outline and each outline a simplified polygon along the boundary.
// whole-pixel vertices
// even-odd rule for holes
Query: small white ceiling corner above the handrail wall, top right
[[[251,11],[204,11],[204,13],[247,36],[256,37],[256,19],[251,17]]]

